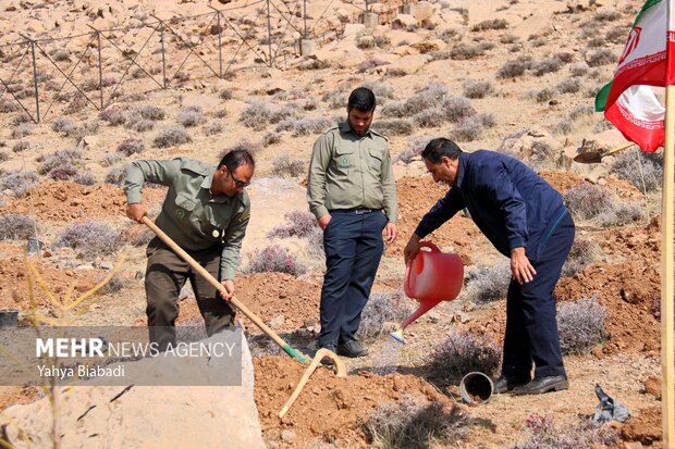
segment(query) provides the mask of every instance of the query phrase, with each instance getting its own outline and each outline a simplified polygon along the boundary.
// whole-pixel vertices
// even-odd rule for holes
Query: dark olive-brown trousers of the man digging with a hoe
[[[173,252],[163,241],[155,237],[147,248],[145,291],[148,300],[146,314],[151,342],[164,351],[169,345],[175,346],[175,319],[179,316],[179,294],[189,279],[199,312],[204,316],[207,335],[233,324],[234,311],[221,297],[216,287]],[[201,266],[213,277],[220,279],[221,248],[216,246],[202,251],[191,252]]]

